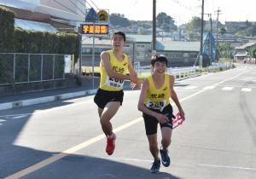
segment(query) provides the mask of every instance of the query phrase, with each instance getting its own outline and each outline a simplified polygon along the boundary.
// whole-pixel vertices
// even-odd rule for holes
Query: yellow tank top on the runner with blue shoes
[[[148,108],[159,109],[162,111],[168,104],[170,104],[170,79],[169,74],[165,74],[165,82],[156,89],[154,86],[152,75],[148,77],[149,89],[147,99],[144,104]]]

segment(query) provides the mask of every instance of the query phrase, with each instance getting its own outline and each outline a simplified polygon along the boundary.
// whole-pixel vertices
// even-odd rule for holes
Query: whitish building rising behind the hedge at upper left
[[[15,12],[15,26],[35,31],[77,31],[84,20],[85,5],[79,0],[0,0]]]

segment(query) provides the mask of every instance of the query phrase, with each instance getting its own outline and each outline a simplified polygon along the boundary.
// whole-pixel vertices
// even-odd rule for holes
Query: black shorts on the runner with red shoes
[[[104,108],[108,102],[110,101],[119,101],[120,105],[122,106],[124,98],[124,91],[108,91],[108,90],[102,90],[98,89],[96,92],[96,95],[94,96],[94,102],[96,105],[100,108]]]

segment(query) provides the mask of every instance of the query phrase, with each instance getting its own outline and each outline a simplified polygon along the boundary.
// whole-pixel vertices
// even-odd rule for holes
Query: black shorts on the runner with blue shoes
[[[162,112],[160,110],[156,109],[151,109],[148,108],[156,113],[162,113],[166,115],[170,122],[165,123],[165,124],[160,124],[160,128],[162,127],[168,127],[172,129],[172,118],[175,118],[175,116],[172,114],[172,106],[171,104],[167,105]],[[159,121],[154,118],[153,116],[150,116],[148,114],[143,113],[143,118],[144,118],[144,124],[145,124],[145,129],[146,129],[146,134],[148,135],[154,135],[157,133],[157,125],[159,124]]]

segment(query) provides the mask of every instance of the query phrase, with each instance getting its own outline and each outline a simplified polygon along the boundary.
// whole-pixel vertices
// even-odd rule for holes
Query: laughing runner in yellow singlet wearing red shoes
[[[106,153],[108,155],[113,154],[116,138],[110,119],[113,118],[122,105],[125,80],[130,80],[134,84],[134,88],[140,84],[131,60],[127,55],[123,54],[125,40],[125,33],[114,32],[112,38],[113,49],[102,52],[100,64],[101,82],[94,98],[98,106],[102,130],[107,136]],[[127,70],[130,75],[126,75]]]

